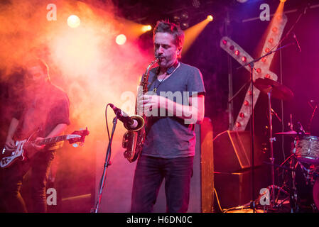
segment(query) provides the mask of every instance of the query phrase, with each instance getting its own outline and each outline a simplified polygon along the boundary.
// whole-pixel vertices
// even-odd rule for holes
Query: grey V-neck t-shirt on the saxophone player
[[[156,67],[149,72],[148,91],[156,88],[157,95],[166,96],[183,105],[188,105],[189,96],[205,94],[202,74],[198,68],[180,62],[180,66],[163,82],[156,78],[157,70]],[[194,125],[185,123],[177,116],[169,116],[165,110],[158,110],[157,116],[148,116],[146,122],[142,155],[163,158],[195,155]]]

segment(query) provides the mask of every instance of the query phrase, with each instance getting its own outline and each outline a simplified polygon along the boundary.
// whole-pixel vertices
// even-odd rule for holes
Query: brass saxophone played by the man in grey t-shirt
[[[138,89],[138,96],[146,94],[148,92],[148,76],[149,70],[153,65],[158,62],[158,57],[156,57],[150,65],[148,65],[146,72],[143,74],[141,79],[141,83],[139,84]],[[142,88],[142,89],[141,89]],[[141,113],[138,113],[138,104],[137,104],[137,97],[136,97],[136,104],[135,104],[135,115],[130,116],[132,119],[137,121],[137,126],[135,128],[130,128],[124,124],[124,127],[128,130],[123,135],[123,142],[122,147],[126,150],[124,151],[124,157],[129,160],[129,162],[134,162],[141,153],[144,145],[145,140],[145,123],[146,123],[146,116],[144,111],[142,110]],[[140,116],[141,114],[142,116]]]

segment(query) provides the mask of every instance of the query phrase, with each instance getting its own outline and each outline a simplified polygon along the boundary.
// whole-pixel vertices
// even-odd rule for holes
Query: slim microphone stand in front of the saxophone
[[[114,135],[116,126],[117,126],[117,116],[113,118],[113,128],[112,128],[111,138],[109,139],[109,145],[107,146],[107,155],[105,157],[103,174],[99,182],[99,195],[97,196],[97,201],[96,201],[94,209],[91,209],[91,213],[97,213],[99,211],[99,205],[101,204],[101,199],[102,199],[102,189],[104,188],[104,184],[106,182],[106,177],[107,177],[107,168],[109,167],[109,165],[111,165],[111,162],[109,162],[109,160],[111,159],[111,146],[112,146],[112,140],[113,140],[113,135]]]

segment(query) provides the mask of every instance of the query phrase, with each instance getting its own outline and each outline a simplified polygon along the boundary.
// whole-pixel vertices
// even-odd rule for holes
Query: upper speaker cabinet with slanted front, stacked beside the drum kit
[[[217,172],[236,172],[252,167],[252,145],[249,131],[225,131],[214,139],[214,165]],[[262,165],[266,155],[261,140],[254,136],[254,166]]]

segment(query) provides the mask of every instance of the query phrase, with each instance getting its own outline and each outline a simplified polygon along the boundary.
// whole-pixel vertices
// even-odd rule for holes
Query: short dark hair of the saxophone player
[[[180,29],[180,26],[169,21],[157,21],[156,26],[153,30],[153,38],[156,33],[170,33],[173,35],[175,45],[177,48],[183,48],[184,44],[184,32]]]

